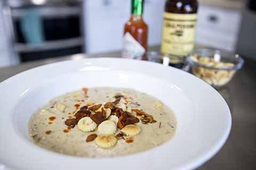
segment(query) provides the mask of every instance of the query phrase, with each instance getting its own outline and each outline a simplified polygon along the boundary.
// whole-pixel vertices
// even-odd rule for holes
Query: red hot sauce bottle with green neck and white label
[[[147,60],[148,25],[142,18],[143,0],[132,0],[131,17],[124,26],[123,57]]]

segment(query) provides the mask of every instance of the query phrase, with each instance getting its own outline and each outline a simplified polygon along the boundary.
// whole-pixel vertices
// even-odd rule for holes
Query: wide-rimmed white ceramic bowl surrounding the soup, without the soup
[[[82,87],[133,88],[170,106],[178,128],[172,140],[115,158],[61,155],[30,142],[28,120],[49,99]],[[193,169],[223,146],[231,127],[225,100],[186,72],[145,61],[94,58],[44,65],[0,83],[0,163],[7,169]]]

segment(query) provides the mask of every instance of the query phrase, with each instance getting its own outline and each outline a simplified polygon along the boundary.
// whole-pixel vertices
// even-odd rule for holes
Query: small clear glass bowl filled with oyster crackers
[[[225,87],[244,64],[238,54],[215,49],[196,49],[188,55],[186,61],[196,77],[216,89]]]

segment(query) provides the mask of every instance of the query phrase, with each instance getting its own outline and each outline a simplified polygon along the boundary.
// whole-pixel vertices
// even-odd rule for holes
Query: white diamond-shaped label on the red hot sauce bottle
[[[122,56],[125,58],[138,58],[140,59],[142,55],[146,52],[146,49],[138,43],[135,38],[129,33],[124,34],[124,50]]]

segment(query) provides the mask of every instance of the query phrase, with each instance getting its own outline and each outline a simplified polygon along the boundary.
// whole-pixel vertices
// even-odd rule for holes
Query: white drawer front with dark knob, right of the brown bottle
[[[196,43],[235,50],[240,20],[238,10],[201,5],[198,9]]]

